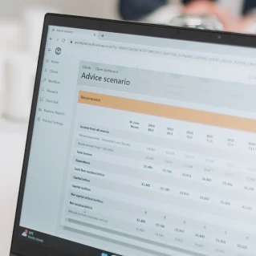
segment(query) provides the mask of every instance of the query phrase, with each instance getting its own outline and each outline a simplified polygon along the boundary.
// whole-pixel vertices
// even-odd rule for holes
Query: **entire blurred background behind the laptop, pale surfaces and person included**
[[[256,32],[256,0],[0,0],[0,205],[5,205],[0,211],[0,255],[10,247],[47,12]]]

